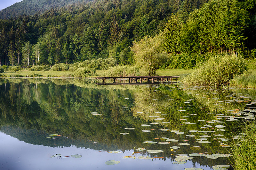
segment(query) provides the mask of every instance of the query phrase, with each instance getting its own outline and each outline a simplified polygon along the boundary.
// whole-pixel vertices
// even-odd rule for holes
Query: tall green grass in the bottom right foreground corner
[[[229,157],[231,165],[235,170],[255,170],[256,169],[256,122],[246,123],[242,129],[246,134],[243,139],[233,141],[231,145],[231,154]],[[236,144],[240,144],[237,146]]]

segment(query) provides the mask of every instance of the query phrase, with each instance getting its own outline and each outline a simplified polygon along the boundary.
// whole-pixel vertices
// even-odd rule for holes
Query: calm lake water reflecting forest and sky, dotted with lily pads
[[[255,118],[251,89],[96,82],[0,79],[0,169],[210,170]]]

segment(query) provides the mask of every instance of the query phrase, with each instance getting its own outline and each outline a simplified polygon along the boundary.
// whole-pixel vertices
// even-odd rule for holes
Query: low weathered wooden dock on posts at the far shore
[[[113,83],[118,84],[117,80],[127,80],[129,79],[129,83],[142,83],[143,80],[146,82],[170,82],[172,81],[172,78],[179,78],[180,76],[129,76],[129,77],[97,77],[96,79],[102,79],[102,84],[105,84],[106,79],[113,79]],[[140,80],[140,81],[138,81]],[[128,83],[128,84],[129,84]],[[111,83],[112,84],[112,83]]]

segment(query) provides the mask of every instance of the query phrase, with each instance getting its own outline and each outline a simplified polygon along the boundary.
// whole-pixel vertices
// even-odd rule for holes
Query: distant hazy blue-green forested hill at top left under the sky
[[[51,8],[87,3],[91,0],[23,0],[0,11],[0,19],[42,14]]]

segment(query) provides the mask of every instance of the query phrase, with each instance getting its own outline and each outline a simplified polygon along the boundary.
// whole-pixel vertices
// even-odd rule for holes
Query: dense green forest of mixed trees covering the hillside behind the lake
[[[20,2],[32,15],[0,20],[1,66],[99,58],[131,65],[142,57],[191,53],[256,57],[255,0],[54,1],[55,8],[46,11],[51,1],[33,2]],[[5,10],[21,11],[14,5]]]

